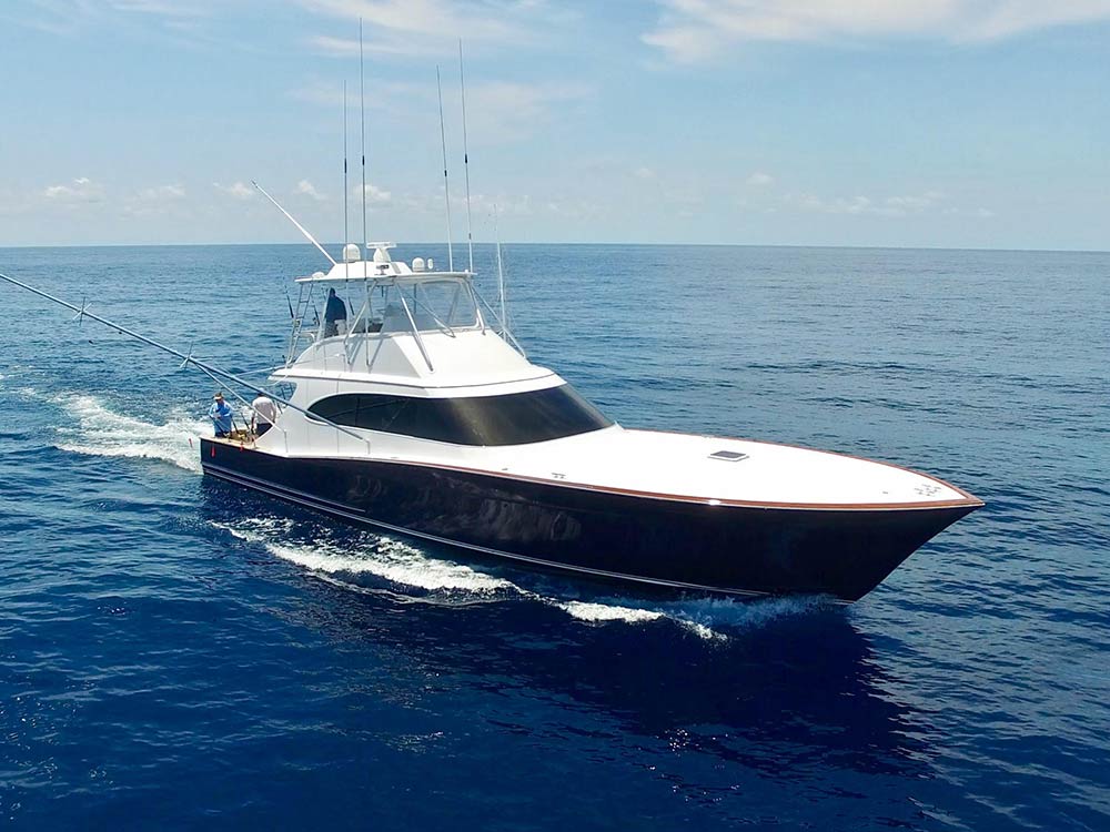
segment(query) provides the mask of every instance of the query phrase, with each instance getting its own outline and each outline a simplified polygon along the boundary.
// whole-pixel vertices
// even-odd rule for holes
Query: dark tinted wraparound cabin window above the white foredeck
[[[322,398],[309,410],[339,425],[454,445],[525,445],[613,424],[569,385],[470,398],[349,393]]]

